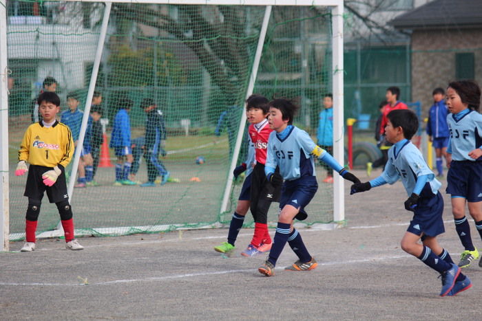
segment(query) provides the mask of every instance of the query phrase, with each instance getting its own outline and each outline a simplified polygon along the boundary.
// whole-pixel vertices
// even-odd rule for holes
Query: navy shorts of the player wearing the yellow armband
[[[302,221],[306,219],[304,208],[315,197],[318,183],[315,176],[300,177],[293,181],[284,181],[281,188],[280,210],[286,205],[291,205],[304,213],[302,217],[296,217]]]

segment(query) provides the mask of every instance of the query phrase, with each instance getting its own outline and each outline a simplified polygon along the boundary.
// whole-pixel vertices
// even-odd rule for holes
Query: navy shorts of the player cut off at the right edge
[[[473,203],[482,201],[482,162],[450,162],[446,192]]]

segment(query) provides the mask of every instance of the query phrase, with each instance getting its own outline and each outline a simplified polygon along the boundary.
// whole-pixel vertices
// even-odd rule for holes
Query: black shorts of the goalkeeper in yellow
[[[38,166],[30,164],[28,168],[27,184],[25,184],[25,192],[23,196],[29,199],[35,199],[42,201],[43,193],[46,191],[50,203],[59,203],[66,199],[69,200],[67,195],[67,181],[65,180],[65,169],[63,166],[59,166],[61,175],[57,178],[54,185],[46,186],[43,184],[43,173],[48,170],[52,170],[52,167]]]

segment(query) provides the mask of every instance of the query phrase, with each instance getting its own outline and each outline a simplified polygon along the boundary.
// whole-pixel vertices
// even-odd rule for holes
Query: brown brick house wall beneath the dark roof
[[[412,101],[420,100],[422,115],[433,104],[432,91],[446,89],[455,78],[455,54],[473,52],[475,80],[482,85],[482,28],[414,30],[412,33]]]

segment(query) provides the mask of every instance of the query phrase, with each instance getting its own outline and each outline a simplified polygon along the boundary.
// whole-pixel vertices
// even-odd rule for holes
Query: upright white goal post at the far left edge
[[[7,12],[0,4],[0,243],[9,249],[10,208],[8,197],[8,67],[7,67]]]

